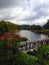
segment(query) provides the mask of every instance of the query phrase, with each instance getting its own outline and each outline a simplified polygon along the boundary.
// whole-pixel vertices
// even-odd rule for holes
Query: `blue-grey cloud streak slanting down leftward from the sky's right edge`
[[[27,16],[24,19],[19,19],[19,21],[34,21],[35,19],[39,19],[42,16],[46,17],[49,15],[49,13],[46,13],[44,11],[42,11],[42,8],[45,9],[45,11],[47,11],[47,9],[49,9],[49,4],[40,4],[39,6],[37,6],[36,8],[34,8],[34,11],[37,13],[35,16],[33,16],[33,14],[31,16]]]

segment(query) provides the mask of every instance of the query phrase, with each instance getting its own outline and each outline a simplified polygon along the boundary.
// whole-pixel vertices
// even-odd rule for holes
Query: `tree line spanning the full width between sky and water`
[[[40,25],[16,25],[14,23],[11,23],[9,21],[0,21],[0,35],[3,33],[11,32],[14,30],[31,30],[31,31],[36,31],[36,32],[48,32],[49,30],[49,20],[47,20],[47,23],[44,24],[43,26]]]

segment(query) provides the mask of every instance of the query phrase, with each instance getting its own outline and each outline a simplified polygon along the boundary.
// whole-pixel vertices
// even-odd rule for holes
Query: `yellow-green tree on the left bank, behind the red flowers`
[[[11,32],[17,29],[17,26],[14,23],[8,21],[0,21],[0,36],[4,33]]]

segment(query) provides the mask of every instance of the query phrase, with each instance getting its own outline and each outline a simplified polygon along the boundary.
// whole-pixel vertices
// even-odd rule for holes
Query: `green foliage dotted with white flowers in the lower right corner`
[[[27,54],[38,58],[38,65],[49,65],[49,44],[42,44],[38,50],[29,51]]]

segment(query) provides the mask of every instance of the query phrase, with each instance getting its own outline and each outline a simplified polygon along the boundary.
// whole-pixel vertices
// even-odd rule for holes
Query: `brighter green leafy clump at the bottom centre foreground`
[[[38,58],[35,56],[30,56],[28,54],[21,53],[21,56],[17,60],[16,65],[35,65]]]

